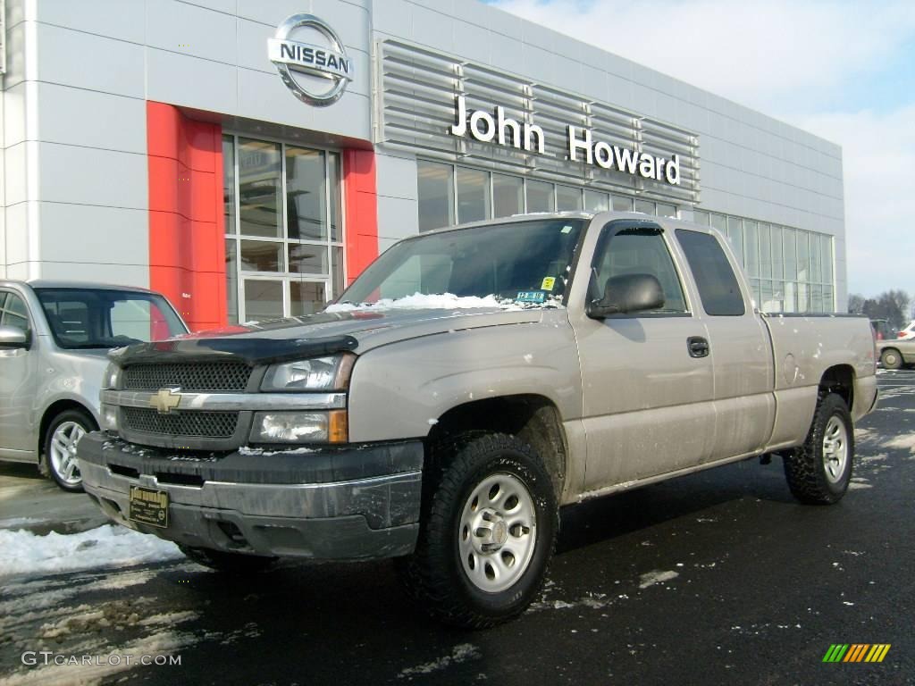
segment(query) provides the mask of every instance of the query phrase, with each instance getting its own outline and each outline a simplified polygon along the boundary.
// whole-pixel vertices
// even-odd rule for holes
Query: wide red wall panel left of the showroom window
[[[193,331],[224,326],[222,129],[146,102],[149,283]]]

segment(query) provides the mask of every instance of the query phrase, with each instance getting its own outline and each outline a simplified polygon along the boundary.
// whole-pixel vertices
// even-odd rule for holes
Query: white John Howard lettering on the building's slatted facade
[[[457,136],[470,135],[480,143],[493,143],[526,150],[529,153],[546,153],[544,130],[535,123],[518,123],[505,116],[505,110],[497,106],[490,114],[483,110],[468,113],[467,102],[458,95],[455,102],[455,123],[448,127],[448,133]],[[665,181],[672,186],[680,185],[680,155],[670,159],[640,153],[628,147],[609,145],[594,141],[590,129],[568,124],[566,146],[569,159],[577,162],[579,154],[588,165],[602,169],[617,169],[625,174]]]

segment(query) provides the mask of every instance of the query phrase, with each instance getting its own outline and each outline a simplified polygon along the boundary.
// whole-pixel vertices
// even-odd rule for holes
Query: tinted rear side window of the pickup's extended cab
[[[677,229],[686,261],[693,271],[705,314],[742,316],[747,312],[737,276],[715,236],[699,231]]]

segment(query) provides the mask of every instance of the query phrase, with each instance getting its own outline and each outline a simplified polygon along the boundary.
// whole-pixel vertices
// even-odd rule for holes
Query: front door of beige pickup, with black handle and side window
[[[594,231],[594,228],[591,229]],[[670,241],[651,220],[613,220],[587,250],[587,294],[576,277],[573,297],[595,300],[610,277],[648,273],[662,285],[653,312],[592,319],[584,304],[571,315],[581,357],[587,432],[585,490],[695,466],[711,454],[715,429],[713,370],[705,327],[688,305]]]

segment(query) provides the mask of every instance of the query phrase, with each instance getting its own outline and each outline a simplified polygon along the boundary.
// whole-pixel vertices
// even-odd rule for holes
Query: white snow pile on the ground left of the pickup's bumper
[[[0,576],[128,567],[182,557],[170,541],[110,524],[67,535],[3,530],[0,551]]]

